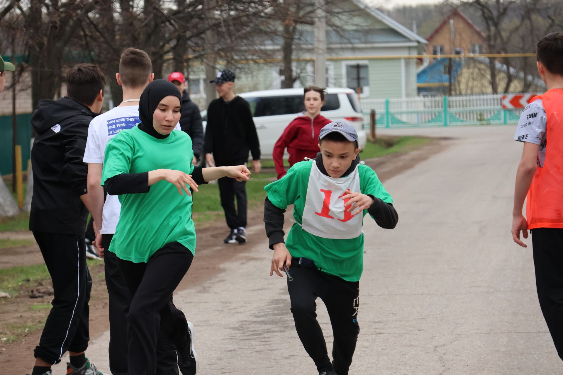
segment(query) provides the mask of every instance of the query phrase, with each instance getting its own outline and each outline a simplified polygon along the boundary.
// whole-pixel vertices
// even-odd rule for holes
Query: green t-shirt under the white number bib
[[[314,236],[301,228],[305,198],[309,185],[311,166],[315,161],[307,160],[294,164],[281,179],[265,187],[269,200],[280,209],[294,204],[293,224],[287,235],[285,246],[292,257],[306,257],[315,262],[316,267],[330,275],[346,281],[359,281],[364,265],[364,234],[350,240],[338,240]],[[370,194],[383,202],[393,203],[377,174],[367,165],[358,166],[360,193]],[[363,215],[368,211],[364,210]]]

